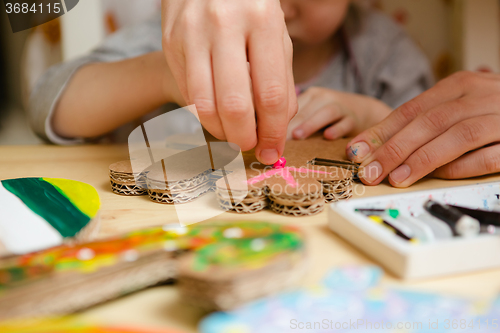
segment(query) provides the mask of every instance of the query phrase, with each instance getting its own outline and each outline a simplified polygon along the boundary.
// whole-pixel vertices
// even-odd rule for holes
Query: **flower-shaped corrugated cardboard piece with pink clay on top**
[[[289,141],[284,152],[287,164],[281,169],[259,163],[253,152],[244,154],[247,183],[240,183],[241,189],[238,188],[233,178],[239,175],[235,173],[219,179],[216,182],[219,204],[236,213],[254,213],[269,207],[282,215],[306,216],[321,212],[325,202],[350,198],[352,171],[313,165],[317,159],[345,160],[346,140],[339,141],[326,141],[318,136]],[[243,201],[231,200],[247,186],[248,195]]]

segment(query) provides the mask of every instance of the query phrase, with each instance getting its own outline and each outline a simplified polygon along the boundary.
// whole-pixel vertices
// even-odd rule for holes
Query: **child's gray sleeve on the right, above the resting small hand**
[[[362,77],[361,93],[396,108],[433,85],[426,56],[390,17],[353,6],[345,27]]]

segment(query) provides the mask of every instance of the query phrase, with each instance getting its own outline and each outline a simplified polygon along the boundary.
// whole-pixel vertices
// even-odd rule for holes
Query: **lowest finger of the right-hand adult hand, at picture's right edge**
[[[500,172],[500,144],[482,148],[443,165],[432,173],[443,179],[463,179]]]

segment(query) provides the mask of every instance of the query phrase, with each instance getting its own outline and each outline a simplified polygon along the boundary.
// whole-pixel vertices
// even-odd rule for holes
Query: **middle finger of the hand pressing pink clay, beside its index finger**
[[[228,142],[246,151],[257,144],[244,36],[224,31],[213,47],[217,111]]]

